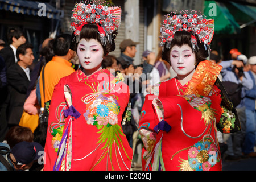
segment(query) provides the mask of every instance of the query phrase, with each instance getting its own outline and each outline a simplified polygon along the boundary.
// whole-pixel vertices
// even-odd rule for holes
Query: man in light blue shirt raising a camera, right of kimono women
[[[245,91],[253,88],[253,80],[248,72],[243,71],[247,57],[238,52],[237,49],[230,50],[230,55],[232,60],[220,63],[223,67],[221,71],[222,84],[233,101],[233,105],[236,107],[242,130],[224,136],[224,140],[228,144],[228,150],[225,152],[226,156],[224,159],[239,160],[245,158],[245,155],[242,154],[242,143],[246,131]]]

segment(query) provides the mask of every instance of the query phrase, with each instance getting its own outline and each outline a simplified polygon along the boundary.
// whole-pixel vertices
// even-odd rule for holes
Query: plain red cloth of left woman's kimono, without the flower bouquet
[[[129,102],[129,88],[123,82],[115,84],[116,88],[122,88],[122,92],[108,92],[104,94],[105,97],[113,96],[119,104],[120,112],[118,114],[118,123],[119,133],[114,132],[114,129],[117,129],[118,126],[114,125],[108,127],[110,135],[108,135],[107,140],[104,140],[100,144],[101,131],[106,131],[106,127],[98,129],[96,125],[88,124],[88,121],[85,119],[86,113],[86,104],[84,103],[85,96],[93,96],[96,94],[96,97],[92,98],[92,102],[97,98],[97,93],[99,90],[104,90],[104,88],[110,88],[113,84],[113,77],[110,72],[106,69],[103,69],[97,73],[94,73],[90,77],[86,77],[81,71],[76,71],[71,75],[61,78],[59,84],[55,86],[55,91],[53,92],[53,97],[51,100],[51,106],[49,109],[49,121],[48,121],[48,131],[47,131],[47,140],[46,140],[46,164],[44,165],[44,170],[52,170],[55,164],[57,157],[57,152],[54,150],[52,127],[54,125],[60,125],[59,115],[63,107],[59,107],[61,104],[67,105],[67,100],[64,97],[64,85],[68,84],[72,92],[72,105],[75,109],[81,114],[79,118],[72,120],[72,130],[69,125],[68,136],[72,135],[72,151],[66,152],[64,161],[67,161],[68,155],[71,152],[72,160],[71,164],[66,164],[64,167],[70,165],[70,170],[128,170],[131,167],[131,160],[133,156],[133,151],[127,142],[125,134],[122,131],[122,114],[125,111],[125,108]],[[102,82],[105,80],[105,82]],[[104,86],[103,86],[104,85]],[[94,92],[95,90],[97,92]],[[90,103],[92,103],[90,102]],[[68,106],[65,106],[64,109],[68,109]],[[92,111],[93,112],[93,111]],[[64,120],[64,130],[68,127],[68,121],[71,117],[67,117]],[[103,130],[104,129],[104,130]],[[72,133],[71,133],[72,131]],[[113,138],[115,135],[115,138]],[[113,139],[112,139],[112,138]],[[109,138],[109,140],[108,140]],[[68,137],[69,139],[71,137]],[[115,139],[115,140],[114,140]],[[113,143],[112,143],[113,142]],[[119,146],[118,146],[118,144]],[[104,147],[109,144],[108,147]],[[91,153],[91,154],[90,154]],[[87,156],[88,155],[88,156]],[[84,158],[86,156],[86,158]],[[84,158],[84,159],[82,159]],[[81,159],[81,160],[77,160]]]

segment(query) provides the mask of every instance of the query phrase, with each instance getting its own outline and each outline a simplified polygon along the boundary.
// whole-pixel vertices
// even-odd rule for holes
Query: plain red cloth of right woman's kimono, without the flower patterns
[[[186,85],[184,87],[186,87]],[[179,87],[179,89],[185,89],[185,88]],[[214,86],[214,90],[218,90],[216,86]],[[163,110],[164,110],[163,118],[158,118],[158,114],[156,113],[157,109],[152,105],[152,101],[153,101],[152,98],[156,98],[157,96],[153,96],[153,95],[146,96],[146,101],[142,108],[141,120],[139,122],[140,133],[142,133],[141,131],[142,129],[144,129],[144,131],[146,130],[154,131],[154,127],[161,121],[161,119],[164,119],[164,121],[166,121],[172,127],[168,133],[166,131],[159,131],[159,133],[156,133],[154,131],[151,134],[151,136],[155,135],[156,137],[153,150],[155,149],[156,143],[158,143],[160,141],[160,138],[163,136],[162,143],[161,143],[162,145],[161,151],[162,151],[164,168],[166,170],[191,170],[192,168],[189,168],[188,166],[188,163],[189,163],[188,151],[191,149],[191,147],[195,146],[195,144],[198,144],[199,142],[203,142],[207,140],[207,137],[208,137],[207,134],[209,134],[211,137],[210,139],[212,140],[210,144],[212,143],[217,144],[216,154],[218,156],[219,161],[216,162],[216,164],[214,164],[212,167],[207,168],[204,166],[204,169],[221,170],[222,167],[221,167],[221,159],[220,159],[220,148],[218,146],[218,140],[217,140],[216,123],[212,121],[209,123],[209,126],[207,127],[204,119],[201,119],[202,117],[201,111],[194,109],[184,97],[178,96],[178,95],[179,95],[179,92],[176,86],[176,78],[160,83],[158,98],[163,106]],[[210,108],[214,109],[213,110],[214,117],[216,118],[216,122],[218,122],[221,115],[220,92],[215,92],[212,96],[208,96],[208,98],[210,98],[211,100]],[[183,111],[183,114],[182,114],[183,130],[185,131],[185,134],[191,137],[188,137],[187,135],[185,135],[181,130],[181,109],[177,104],[181,106],[181,109]],[[154,119],[152,119],[152,115],[154,115]],[[192,138],[192,137],[197,137],[197,138]],[[154,160],[151,159],[151,162],[149,163],[149,165],[145,166],[147,162],[146,158],[148,156],[147,152],[148,151],[146,150],[146,148],[143,148],[143,151],[142,151],[143,170],[151,170],[152,164],[154,162]],[[205,164],[206,163],[204,163],[204,165]],[[201,167],[199,167],[199,164],[197,164],[197,167],[199,167],[197,169],[203,169],[202,165],[203,164],[201,164]]]

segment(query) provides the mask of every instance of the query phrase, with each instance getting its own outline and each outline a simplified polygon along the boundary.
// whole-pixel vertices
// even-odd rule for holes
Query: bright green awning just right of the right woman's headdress
[[[237,34],[240,32],[239,24],[224,3],[204,1],[204,15],[214,19],[214,34]]]

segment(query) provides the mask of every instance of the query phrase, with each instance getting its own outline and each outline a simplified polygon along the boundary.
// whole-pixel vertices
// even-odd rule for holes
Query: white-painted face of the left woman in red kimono
[[[79,57],[79,63],[84,68],[85,75],[92,75],[102,69],[103,54],[103,47],[96,39],[80,40],[77,46],[77,56]]]

